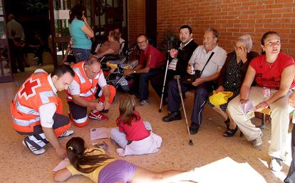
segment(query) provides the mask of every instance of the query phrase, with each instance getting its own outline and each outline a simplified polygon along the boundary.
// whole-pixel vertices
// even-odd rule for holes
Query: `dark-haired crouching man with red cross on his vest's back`
[[[12,127],[19,134],[29,134],[23,144],[33,154],[43,154],[43,147],[50,142],[58,156],[66,157],[66,149],[59,144],[57,137],[73,134],[73,130],[67,130],[71,122],[62,115],[62,102],[56,91],[68,89],[74,75],[70,66],[59,66],[51,74],[37,69],[12,100]]]

